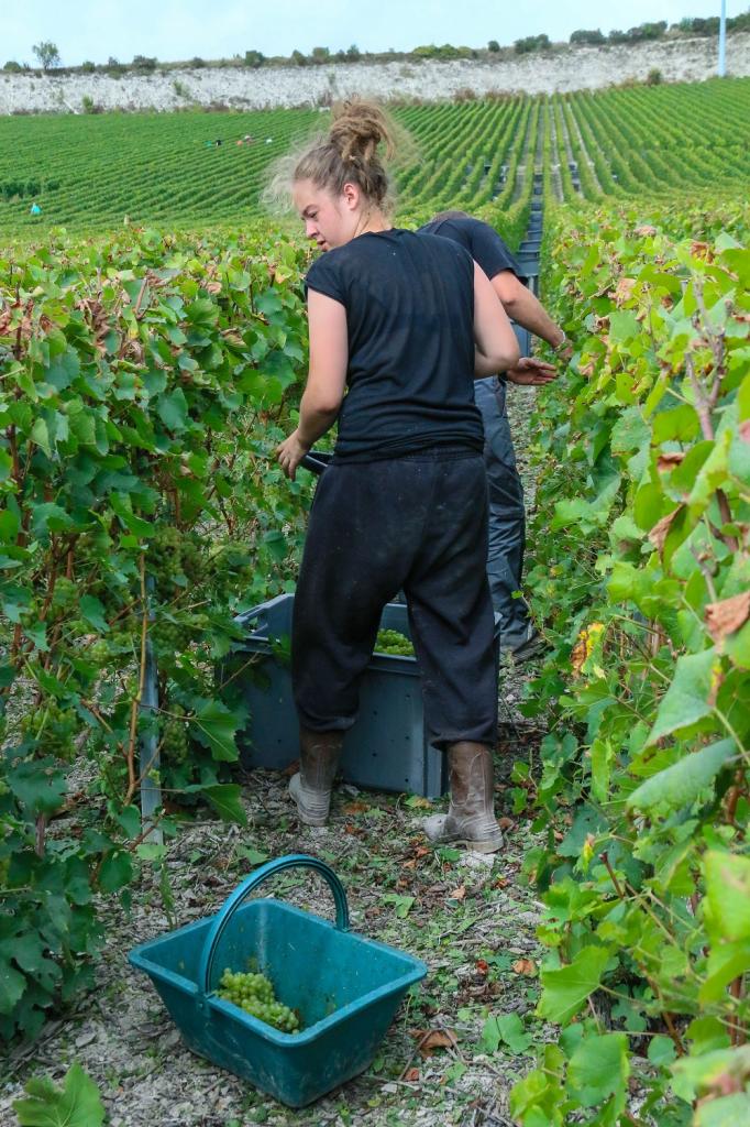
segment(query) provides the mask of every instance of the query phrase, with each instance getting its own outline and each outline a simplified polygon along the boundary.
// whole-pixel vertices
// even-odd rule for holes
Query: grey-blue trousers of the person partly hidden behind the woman
[[[529,633],[529,610],[520,592],[526,545],[524,487],[506,410],[506,384],[497,376],[474,381],[484,423],[484,465],[490,499],[488,578],[494,610],[501,615],[502,649],[515,649]]]

